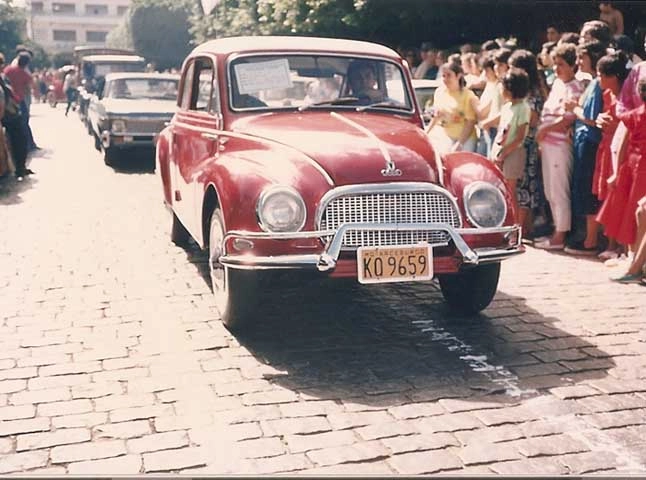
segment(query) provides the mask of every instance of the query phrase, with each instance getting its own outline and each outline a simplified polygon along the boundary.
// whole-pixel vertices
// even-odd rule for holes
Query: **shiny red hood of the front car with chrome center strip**
[[[336,185],[438,182],[430,142],[407,118],[370,112],[290,112],[247,117],[232,128],[298,150],[317,162]],[[389,164],[394,175],[382,173]]]

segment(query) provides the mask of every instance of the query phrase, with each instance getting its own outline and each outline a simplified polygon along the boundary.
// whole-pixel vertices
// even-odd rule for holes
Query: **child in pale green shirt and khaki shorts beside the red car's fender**
[[[500,110],[498,133],[491,149],[491,160],[500,168],[509,184],[514,206],[514,220],[520,223],[517,184],[523,177],[527,151],[525,137],[529,131],[531,109],[525,101],[529,91],[529,77],[520,68],[510,68],[502,80],[506,103]]]

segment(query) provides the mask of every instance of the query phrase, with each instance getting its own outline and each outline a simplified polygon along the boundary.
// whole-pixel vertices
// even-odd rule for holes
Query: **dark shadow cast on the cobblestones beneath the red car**
[[[320,399],[391,406],[409,401],[541,390],[603,378],[609,355],[558,319],[499,292],[483,314],[453,315],[436,283],[364,286],[301,281],[262,304],[252,334],[237,335],[268,378]]]

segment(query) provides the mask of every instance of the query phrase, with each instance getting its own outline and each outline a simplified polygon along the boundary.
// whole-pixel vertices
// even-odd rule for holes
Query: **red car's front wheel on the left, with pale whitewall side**
[[[254,323],[258,314],[260,273],[228,268],[219,262],[224,246],[224,221],[216,208],[209,225],[209,272],[215,304],[222,323],[232,332],[243,332]]]

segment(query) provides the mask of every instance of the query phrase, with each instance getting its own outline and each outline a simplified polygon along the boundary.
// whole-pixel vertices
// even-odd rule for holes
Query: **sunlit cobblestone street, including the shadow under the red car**
[[[0,179],[0,474],[646,472],[646,288],[531,247],[482,315],[286,275],[234,337],[159,179],[32,107]]]

